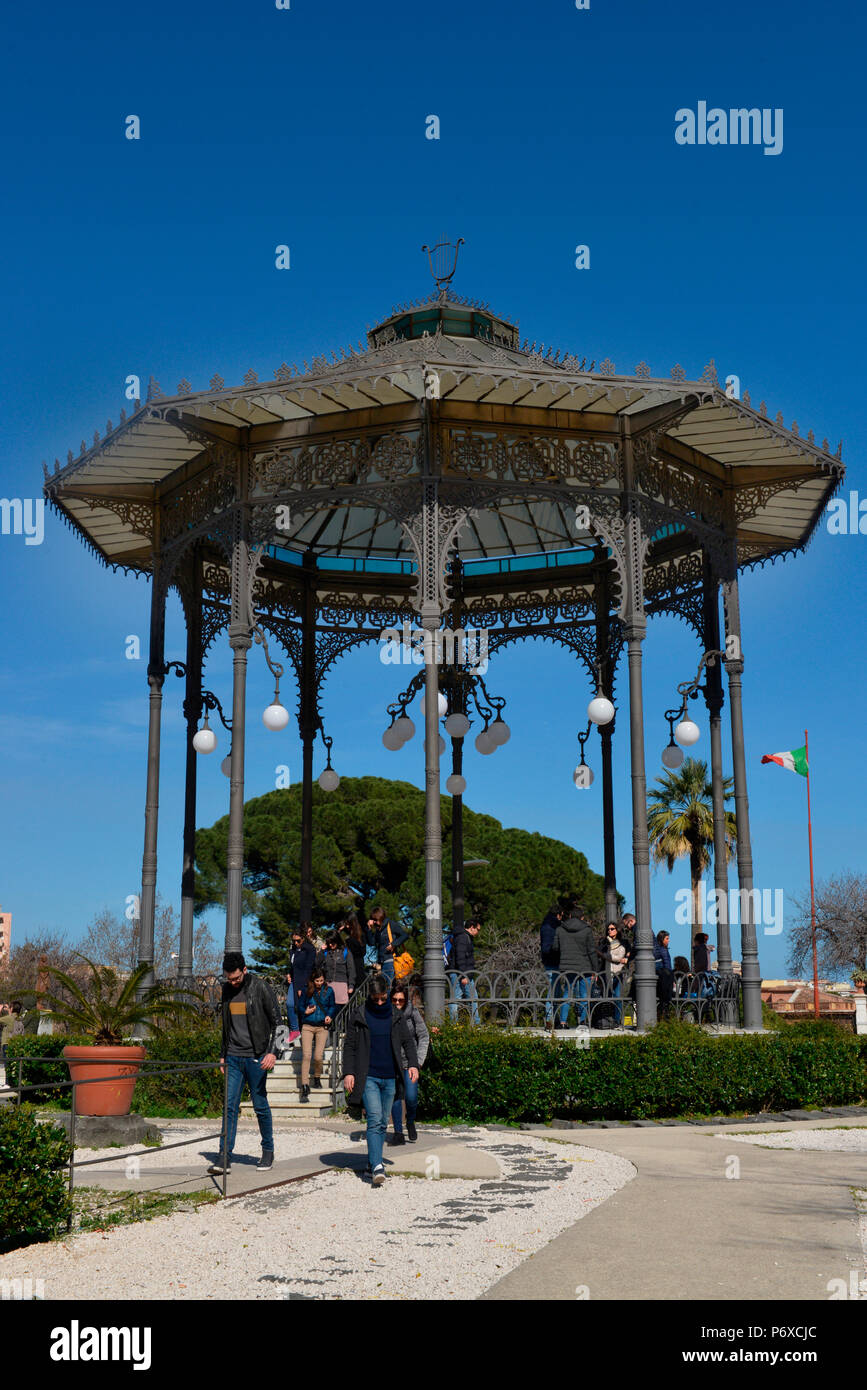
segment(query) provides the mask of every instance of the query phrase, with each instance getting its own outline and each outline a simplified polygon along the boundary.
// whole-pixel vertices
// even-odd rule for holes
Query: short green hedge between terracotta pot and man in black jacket
[[[147,1038],[147,1070],[171,1062],[218,1062],[220,1027],[161,1029]],[[132,1097],[136,1115],[178,1118],[222,1113],[220,1068],[140,1076]]]

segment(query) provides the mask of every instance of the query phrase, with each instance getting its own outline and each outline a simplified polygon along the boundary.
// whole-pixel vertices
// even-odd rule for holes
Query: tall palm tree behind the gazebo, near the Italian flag
[[[722,780],[724,801],[732,798],[732,778]],[[678,859],[689,855],[692,922],[702,926],[702,878],[713,851],[713,787],[707,763],[688,758],[679,771],[666,773],[647,795],[647,835],[654,862],[666,863],[668,873]],[[738,838],[734,810],[725,812],[725,862]]]

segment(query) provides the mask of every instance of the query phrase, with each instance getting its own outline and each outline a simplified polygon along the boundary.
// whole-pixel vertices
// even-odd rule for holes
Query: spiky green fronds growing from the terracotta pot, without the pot
[[[83,1033],[96,1047],[117,1047],[140,1023],[196,1012],[196,1005],[190,1002],[196,995],[190,990],[174,986],[167,988],[164,984],[150,984],[142,990],[142,981],[150,972],[149,965],[138,966],[122,980],[110,966],[96,965],[85,955],[81,959],[90,970],[90,979],[83,987],[63,970],[50,966],[47,972],[71,999],[47,991],[40,991],[38,999],[49,1005],[43,1017],[65,1023],[74,1033]]]

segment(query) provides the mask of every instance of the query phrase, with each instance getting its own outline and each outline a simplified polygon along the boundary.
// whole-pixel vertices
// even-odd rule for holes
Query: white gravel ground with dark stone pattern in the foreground
[[[0,1257],[0,1277],[42,1279],[47,1300],[478,1298],[635,1176],[614,1154],[535,1136],[472,1130],[454,1137],[492,1152],[503,1177],[390,1176],[374,1190],[353,1172],[328,1172],[199,1211],[13,1251]],[[286,1158],[324,1145],[364,1150],[349,1136],[321,1130],[276,1131],[275,1140],[278,1156]],[[421,1133],[420,1151],[424,1143]],[[238,1151],[258,1152],[258,1134],[242,1134]],[[144,1152],[168,1163],[190,1151]]]

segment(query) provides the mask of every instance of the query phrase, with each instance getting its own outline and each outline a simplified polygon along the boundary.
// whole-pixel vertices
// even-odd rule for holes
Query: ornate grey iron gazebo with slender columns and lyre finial
[[[436,247],[434,249],[436,250]],[[439,260],[439,259],[438,259]],[[432,260],[434,268],[434,260]],[[741,682],[738,571],[802,550],[843,477],[841,450],[735,399],[713,361],[624,375],[521,342],[517,324],[457,296],[450,277],[400,304],[367,343],[240,386],[182,381],[147,399],[65,467],[44,496],[97,557],[151,575],[150,723],[140,952],[153,960],[165,602],[186,621],[186,801],[179,973],[192,973],[196,753],[201,670],[228,632],[233,652],[226,949],[240,947],[246,660],[253,634],[282,646],[299,680],[303,745],[302,916],[311,905],[313,749],[320,694],[347,649],[404,619],[488,631],[489,652],[529,637],[575,652],[613,698],[627,651],[639,1026],[656,1019],[646,821],[642,644],[672,613],[707,663],[714,880],[724,916],[722,676],[728,681],[742,890],[745,1026],[761,1026]],[[439,284],[439,281],[443,281]],[[459,563],[460,562],[460,563]],[[724,600],[720,631],[718,595]],[[175,664],[175,663],[172,663]],[[425,666],[425,997],[445,1004],[439,671]],[[606,903],[617,903],[611,741],[602,735]],[[460,802],[460,798],[457,798]],[[731,970],[728,923],[718,966]]]

